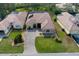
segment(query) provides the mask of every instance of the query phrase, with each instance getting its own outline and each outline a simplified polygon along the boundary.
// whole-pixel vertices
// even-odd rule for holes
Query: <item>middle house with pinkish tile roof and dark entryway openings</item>
[[[55,32],[51,17],[47,12],[30,12],[26,24],[28,29],[40,30],[43,33]]]

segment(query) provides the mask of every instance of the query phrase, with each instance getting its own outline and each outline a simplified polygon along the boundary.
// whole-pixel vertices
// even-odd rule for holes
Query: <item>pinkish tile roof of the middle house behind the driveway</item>
[[[49,13],[33,12],[30,14],[33,14],[33,17],[28,18],[26,24],[41,23],[42,29],[54,29]]]

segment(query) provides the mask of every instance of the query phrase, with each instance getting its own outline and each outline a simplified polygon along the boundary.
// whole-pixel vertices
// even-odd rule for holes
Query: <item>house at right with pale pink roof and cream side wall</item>
[[[79,21],[68,12],[62,12],[57,16],[57,22],[67,34],[79,34]]]

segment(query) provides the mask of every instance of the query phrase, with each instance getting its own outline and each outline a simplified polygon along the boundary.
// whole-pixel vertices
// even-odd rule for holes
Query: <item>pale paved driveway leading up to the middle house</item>
[[[24,53],[23,55],[36,55],[35,38],[39,35],[38,31],[26,31],[23,33]]]

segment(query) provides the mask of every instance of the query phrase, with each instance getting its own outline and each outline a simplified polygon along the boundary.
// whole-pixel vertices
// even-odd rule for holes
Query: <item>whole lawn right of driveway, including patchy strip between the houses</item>
[[[56,16],[53,16],[53,18]],[[54,38],[44,38],[37,37],[35,41],[36,49],[39,53],[50,53],[50,52],[79,52],[79,47],[74,42],[73,38],[68,36],[64,31],[62,31],[61,27],[57,22],[55,22],[52,18],[52,21],[55,26],[56,33],[58,38],[62,41],[62,43],[58,43]]]

